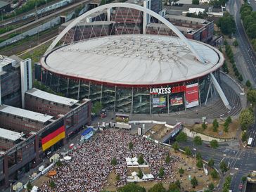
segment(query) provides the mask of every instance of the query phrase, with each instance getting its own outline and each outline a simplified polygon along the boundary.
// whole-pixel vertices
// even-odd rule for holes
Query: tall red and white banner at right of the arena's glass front
[[[186,86],[186,108],[193,108],[199,105],[198,83]]]

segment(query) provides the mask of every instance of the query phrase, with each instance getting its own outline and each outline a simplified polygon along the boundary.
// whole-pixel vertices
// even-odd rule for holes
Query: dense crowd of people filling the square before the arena
[[[133,148],[129,150],[131,141]],[[56,167],[57,174],[52,178],[56,184],[54,190],[47,182],[41,186],[40,191],[102,191],[107,184],[108,174],[112,171],[120,175],[120,180],[116,181],[117,188],[124,186],[127,180],[125,158],[138,157],[141,154],[148,162],[155,180],[168,178],[174,181],[173,171],[177,169],[179,158],[171,156],[171,162],[167,164],[165,158],[168,152],[167,148],[142,136],[124,130],[104,130],[91,141],[83,143],[81,148],[70,152],[70,162]],[[111,165],[114,157],[117,165]],[[163,178],[158,176],[160,167],[165,169]]]

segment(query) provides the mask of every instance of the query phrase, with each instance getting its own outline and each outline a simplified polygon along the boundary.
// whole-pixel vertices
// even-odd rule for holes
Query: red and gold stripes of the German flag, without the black
[[[46,151],[47,148],[53,146],[55,143],[57,143],[63,138],[65,138],[64,125],[56,129],[55,131],[51,132],[51,134],[44,136],[41,139],[41,145],[42,145],[43,151]]]

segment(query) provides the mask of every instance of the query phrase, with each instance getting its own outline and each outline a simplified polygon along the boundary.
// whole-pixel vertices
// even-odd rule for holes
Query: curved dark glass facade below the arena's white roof
[[[214,72],[219,81],[219,70]],[[172,113],[186,110],[186,92],[171,94],[151,94],[150,89],[155,87],[120,87],[108,84],[97,84],[83,79],[69,79],[52,72],[42,73],[43,82],[53,91],[61,92],[69,98],[81,100],[90,98],[92,103],[99,101],[107,110],[129,114],[158,114]],[[198,84],[198,105],[205,102],[210,86],[210,76],[206,75],[180,84],[170,84],[162,87],[180,87],[189,84]],[[160,87],[158,87],[160,88]],[[208,98],[212,96],[212,91]]]

